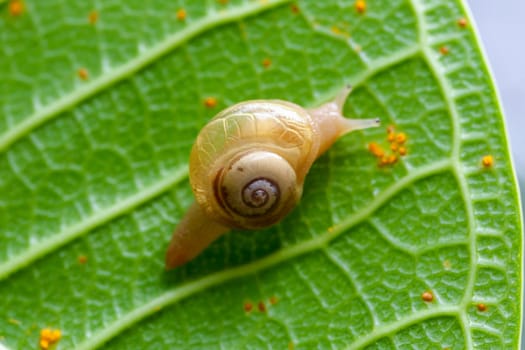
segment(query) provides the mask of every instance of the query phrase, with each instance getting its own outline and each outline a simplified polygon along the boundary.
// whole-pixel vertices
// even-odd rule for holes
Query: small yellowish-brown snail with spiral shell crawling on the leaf
[[[183,265],[231,228],[276,224],[297,204],[313,162],[342,135],[379,126],[347,119],[346,86],[333,100],[305,109],[281,100],[240,102],[200,131],[190,155],[196,203],[168,247],[166,268]]]

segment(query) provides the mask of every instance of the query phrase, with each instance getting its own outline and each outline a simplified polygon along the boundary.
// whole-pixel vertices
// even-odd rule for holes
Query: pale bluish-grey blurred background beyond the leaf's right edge
[[[525,199],[525,46],[523,45],[525,1],[468,0],[467,3],[485,46],[492,74],[496,79],[507,119],[507,131],[523,201]],[[522,212],[525,212],[523,203]],[[523,328],[521,338],[521,349],[525,349]]]

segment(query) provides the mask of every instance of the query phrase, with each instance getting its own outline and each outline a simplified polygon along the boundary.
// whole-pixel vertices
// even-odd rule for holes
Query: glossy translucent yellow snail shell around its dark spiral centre
[[[197,203],[211,218],[230,227],[274,224],[301,197],[304,178],[319,150],[318,133],[308,112],[289,102],[246,101],[226,109],[201,130],[191,152],[190,181]],[[237,183],[225,183],[229,175],[225,173]],[[279,205],[265,217],[244,216],[242,208],[229,208],[221,200],[221,186],[242,187],[242,180],[265,176],[279,184],[281,196]]]

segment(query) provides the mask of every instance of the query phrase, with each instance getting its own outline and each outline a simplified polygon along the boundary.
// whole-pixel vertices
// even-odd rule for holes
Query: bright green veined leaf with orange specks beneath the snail
[[[461,1],[0,11],[0,343],[36,349],[49,327],[59,349],[518,348],[516,181]],[[346,115],[383,127],[321,157],[281,224],[165,272],[199,129],[239,101],[315,106],[345,83]],[[367,144],[390,124],[408,155],[379,167]]]

